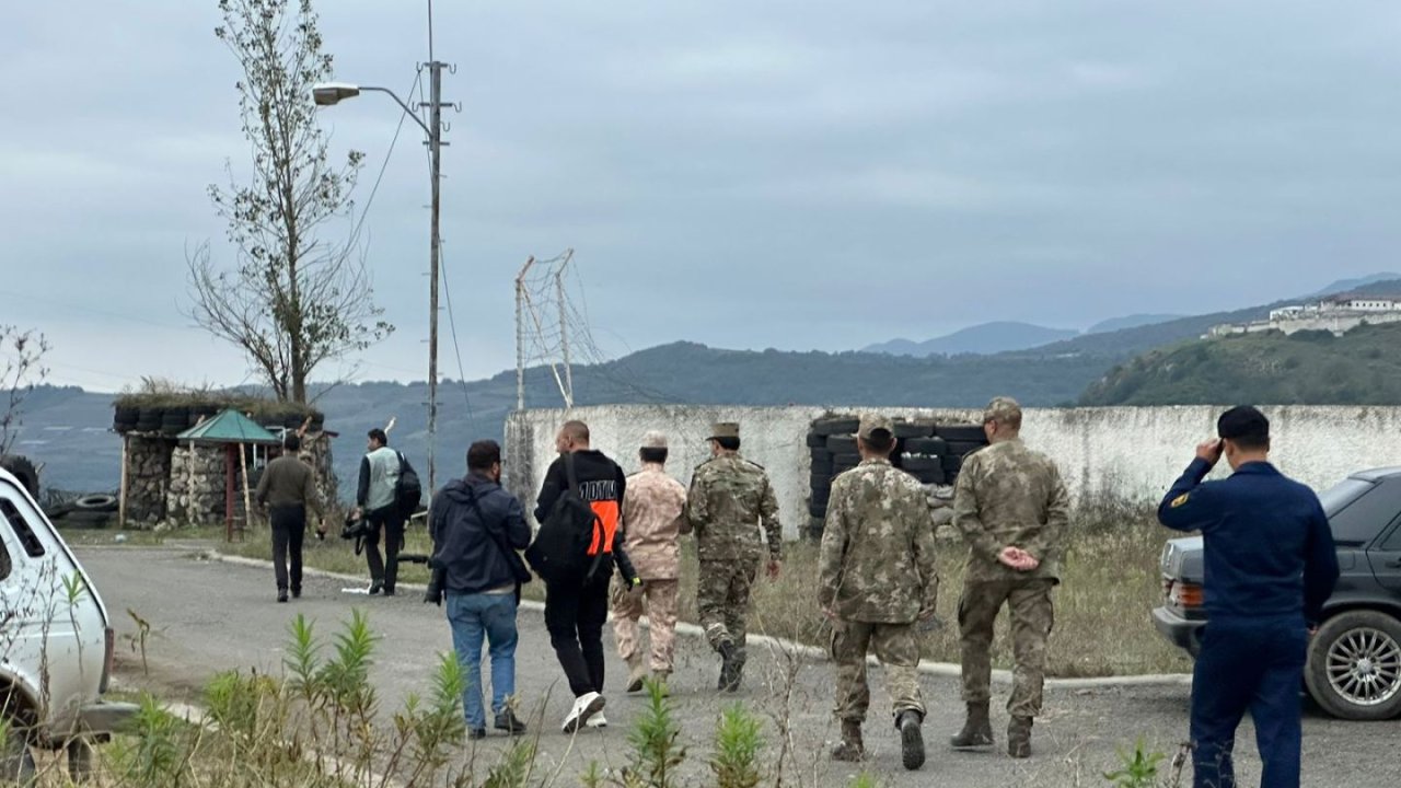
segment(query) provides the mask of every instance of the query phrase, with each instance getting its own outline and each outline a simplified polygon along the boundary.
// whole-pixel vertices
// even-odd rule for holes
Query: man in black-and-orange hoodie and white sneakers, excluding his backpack
[[[579,496],[588,503],[602,533],[594,536],[588,554],[594,571],[590,575],[551,578],[545,580],[545,627],[549,642],[555,646],[560,667],[574,693],[574,705],[565,716],[565,733],[579,731],[581,725],[601,728],[608,722],[600,714],[604,708],[604,623],[608,620],[608,580],[616,564],[623,582],[636,593],[642,580],[633,571],[628,554],[623,552],[622,494],[628,487],[626,475],[614,463],[588,447],[588,426],[580,421],[569,421],[555,436],[559,458],[545,473],[545,484],[535,501],[535,520],[545,522],[555,501],[569,489],[569,473],[565,456],[574,464],[574,481]]]

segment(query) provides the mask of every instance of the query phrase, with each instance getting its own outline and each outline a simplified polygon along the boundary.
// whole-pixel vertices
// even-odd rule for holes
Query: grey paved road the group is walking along
[[[119,677],[132,686],[147,686],[164,698],[199,702],[199,687],[214,672],[256,667],[279,672],[287,623],[298,613],[317,621],[318,632],[329,635],[349,617],[352,607],[370,616],[370,625],[384,639],[373,680],[381,702],[396,707],[410,691],[423,691],[436,655],[451,649],[443,611],[423,604],[416,593],[396,597],[347,595],[352,585],[342,579],[308,576],[304,596],[289,604],[273,602],[270,569],[199,559],[191,548],[83,547],[77,550],[112,613],[118,630]],[[147,644],[150,674],[143,674],[140,658],[127,648],[136,632],[134,611],[150,623],[154,634]],[[626,673],[622,660],[609,652],[607,716],[609,728],[588,731],[576,740],[559,733],[567,711],[567,687],[555,662],[542,616],[523,609],[517,651],[517,690],[531,725],[541,725],[542,759],[563,767],[565,775],[583,773],[590,760],[622,766],[628,753],[628,725],[643,707],[640,697],[619,690]],[[1055,642],[1052,648],[1076,648]],[[736,695],[715,691],[717,662],[696,638],[678,637],[677,673],[672,700],[688,746],[684,774],[689,782],[705,784],[706,759],[715,722],[722,708],[743,701],[764,716],[769,736],[766,763],[779,761],[779,721],[787,721],[792,747],[783,754],[785,784],[846,785],[857,768],[834,764],[825,757],[827,743],[836,736],[831,719],[832,669],[822,662],[797,659],[772,648],[751,648],[747,686]],[[1115,749],[1132,746],[1143,736],[1150,749],[1168,754],[1185,738],[1188,687],[1105,687],[1094,690],[1048,690],[1045,715],[1034,736],[1035,754],[1026,761],[1002,752],[953,753],[947,738],[962,719],[957,680],[926,676],[925,700],[930,714],[925,724],[929,761],[919,773],[899,766],[899,745],[888,716],[888,702],[880,670],[871,672],[873,716],[866,725],[870,756],[862,768],[888,787],[940,785],[1104,785],[1101,774],[1117,766]],[[995,694],[1005,700],[1006,687]],[[1339,722],[1306,707],[1304,784],[1318,787],[1373,787],[1401,784],[1401,764],[1387,753],[1401,742],[1401,721],[1381,724]],[[542,715],[542,716],[541,716]],[[1005,714],[995,714],[999,743],[1005,742]],[[504,736],[489,736],[479,745],[478,763],[504,749]],[[1247,721],[1237,742],[1237,773],[1243,785],[1257,784],[1259,763],[1254,757],[1254,729]],[[1188,774],[1184,775],[1189,784]],[[565,780],[562,784],[573,784]]]

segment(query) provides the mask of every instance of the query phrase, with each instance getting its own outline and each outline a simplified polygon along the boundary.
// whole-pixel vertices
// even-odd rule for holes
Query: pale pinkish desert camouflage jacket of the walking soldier
[[[637,576],[674,580],[681,564],[677,540],[689,531],[685,519],[686,488],[668,477],[660,464],[646,463],[628,477],[622,498],[623,545]]]

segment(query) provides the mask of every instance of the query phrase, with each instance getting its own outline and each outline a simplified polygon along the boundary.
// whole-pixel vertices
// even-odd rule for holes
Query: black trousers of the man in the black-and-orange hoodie
[[[608,572],[593,580],[545,583],[545,628],[574,697],[604,691],[604,621]]]

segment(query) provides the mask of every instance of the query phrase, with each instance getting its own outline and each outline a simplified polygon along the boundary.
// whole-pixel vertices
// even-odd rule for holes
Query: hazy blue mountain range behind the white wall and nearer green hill
[[[1363,293],[1401,292],[1401,280],[1369,279],[1366,285],[1341,282],[1330,287]],[[1129,321],[1126,328],[1086,334],[1059,331],[1059,338],[1049,344],[985,355],[972,351],[930,358],[876,352],[754,352],[677,342],[602,365],[574,367],[574,401],[580,405],[978,407],[998,394],[1012,394],[1026,405],[1065,405],[1082,401],[1082,395],[1089,397],[1093,384],[1107,380],[1115,367],[1128,369],[1126,365],[1139,353],[1191,345],[1213,325],[1261,320],[1271,308],[1309,297],[1316,296],[1163,322],[1145,321],[1168,315],[1133,315],[1122,318]],[[1017,331],[1023,330],[1009,328],[1007,334]],[[398,419],[392,443],[409,454],[420,473],[425,471],[426,401],[426,383],[368,381],[321,393],[317,407],[326,414],[326,429],[342,433],[335,444],[335,467],[342,489],[349,489],[354,478],[366,430],[382,426],[389,416]],[[516,373],[503,372],[468,383],[443,381],[439,401],[436,446],[441,484],[462,471],[462,456],[472,440],[502,439],[506,415],[516,407]],[[1101,401],[1100,395],[1093,401]],[[559,404],[549,370],[527,370],[525,407]],[[41,387],[25,402],[15,451],[46,463],[42,480],[48,487],[113,489],[120,474],[120,440],[109,432],[111,425],[111,394]]]

